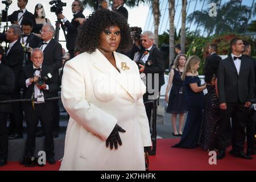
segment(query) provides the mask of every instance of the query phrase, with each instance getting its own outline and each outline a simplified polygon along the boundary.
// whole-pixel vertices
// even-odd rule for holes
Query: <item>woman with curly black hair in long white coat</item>
[[[68,61],[61,100],[70,115],[61,170],[145,170],[151,146],[137,64],[115,52],[130,47],[127,20],[109,10],[89,15]]]

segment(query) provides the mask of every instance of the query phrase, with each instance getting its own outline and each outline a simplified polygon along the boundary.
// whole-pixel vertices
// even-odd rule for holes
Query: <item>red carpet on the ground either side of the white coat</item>
[[[216,165],[210,165],[208,152],[196,149],[171,148],[179,139],[158,139],[156,155],[150,156],[151,171],[256,171],[256,156],[253,160],[234,158],[226,151],[226,157],[217,160]],[[6,166],[0,167],[0,171],[57,171],[60,162],[55,165],[46,164],[44,167],[23,167],[18,162],[9,162]]]

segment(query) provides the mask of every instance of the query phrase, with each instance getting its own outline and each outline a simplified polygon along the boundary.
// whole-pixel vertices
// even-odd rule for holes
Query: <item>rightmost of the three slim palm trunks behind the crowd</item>
[[[182,0],[182,20],[181,20],[181,32],[180,32],[180,46],[181,52],[185,52],[185,34],[186,34],[186,16],[187,16],[187,0]]]

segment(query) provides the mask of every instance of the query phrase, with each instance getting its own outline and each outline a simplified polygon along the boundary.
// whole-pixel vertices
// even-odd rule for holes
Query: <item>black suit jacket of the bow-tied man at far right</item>
[[[231,55],[220,61],[218,95],[220,104],[251,101],[254,97],[253,61],[242,56],[239,75]]]

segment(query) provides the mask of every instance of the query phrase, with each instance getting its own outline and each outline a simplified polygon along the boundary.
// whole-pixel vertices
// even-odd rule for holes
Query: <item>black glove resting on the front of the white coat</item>
[[[118,133],[119,131],[122,132],[122,133],[126,132],[120,126],[118,126],[116,124],[114,129],[110,133],[109,137],[106,139],[106,147],[110,146],[110,149],[112,150],[113,149],[113,144],[115,146],[115,149],[118,148],[117,142],[119,143],[119,145],[122,145],[122,140],[121,140],[121,138],[119,136],[119,133]]]

